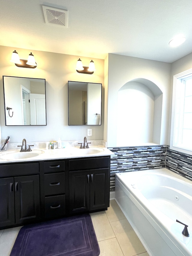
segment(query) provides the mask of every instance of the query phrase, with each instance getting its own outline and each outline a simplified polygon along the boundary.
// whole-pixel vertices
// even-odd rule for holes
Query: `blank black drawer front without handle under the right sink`
[[[82,149],[83,150],[83,149]],[[110,157],[98,157],[98,158],[83,158],[83,159],[70,159],[69,170],[83,170],[83,169],[99,169],[109,168]]]

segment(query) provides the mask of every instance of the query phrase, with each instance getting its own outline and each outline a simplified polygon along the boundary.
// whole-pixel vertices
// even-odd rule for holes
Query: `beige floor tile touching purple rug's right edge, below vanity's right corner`
[[[105,212],[94,212],[90,215],[98,241],[115,237]]]

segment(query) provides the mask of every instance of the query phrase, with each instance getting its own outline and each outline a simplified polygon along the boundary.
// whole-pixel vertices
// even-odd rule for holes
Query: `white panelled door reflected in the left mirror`
[[[31,125],[46,125],[45,95],[30,93]]]

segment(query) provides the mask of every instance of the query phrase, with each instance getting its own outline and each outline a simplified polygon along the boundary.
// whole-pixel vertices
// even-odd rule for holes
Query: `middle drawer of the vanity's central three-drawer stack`
[[[44,174],[45,195],[64,194],[65,192],[64,173]]]

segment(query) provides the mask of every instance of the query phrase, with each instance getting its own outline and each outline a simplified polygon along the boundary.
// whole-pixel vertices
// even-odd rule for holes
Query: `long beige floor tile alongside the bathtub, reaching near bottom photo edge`
[[[113,221],[110,224],[124,255],[132,256],[146,252],[146,249],[143,247],[127,219]]]

